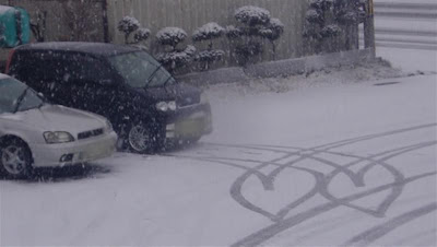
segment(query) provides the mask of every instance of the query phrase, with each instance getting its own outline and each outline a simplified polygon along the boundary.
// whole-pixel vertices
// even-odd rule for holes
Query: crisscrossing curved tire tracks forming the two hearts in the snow
[[[414,150],[420,150],[423,148],[435,145],[436,142],[433,141],[433,142],[425,142],[425,143],[403,146],[403,148],[381,152],[378,154],[374,154],[374,155],[370,155],[367,157],[362,157],[362,156],[352,155],[352,154],[344,154],[341,152],[332,152],[330,150],[335,149],[335,148],[346,146],[346,145],[363,142],[363,141],[367,141],[367,140],[379,139],[382,137],[394,136],[394,134],[399,134],[399,133],[403,133],[403,132],[410,132],[410,131],[415,131],[415,130],[420,130],[420,129],[432,128],[435,126],[436,126],[436,124],[429,124],[429,125],[416,126],[416,127],[412,127],[412,128],[388,131],[388,132],[383,132],[383,133],[368,134],[368,136],[364,136],[364,137],[358,137],[358,138],[339,141],[339,142],[332,142],[332,143],[328,143],[328,144],[323,144],[323,145],[318,145],[318,146],[310,148],[310,149],[288,148],[288,146],[268,146],[267,148],[263,145],[226,145],[226,144],[210,143],[211,145],[215,145],[215,146],[226,146],[226,148],[232,146],[232,148],[238,148],[238,149],[243,148],[243,149],[250,149],[250,150],[257,150],[257,151],[271,151],[271,152],[277,152],[277,153],[284,154],[283,156],[279,157],[279,158],[274,158],[269,162],[260,162],[260,161],[256,161],[256,160],[245,160],[245,158],[232,158],[232,157],[215,157],[215,156],[212,156],[212,157],[211,156],[210,157],[208,157],[208,156],[206,157],[185,156],[185,157],[200,160],[200,161],[206,161],[206,162],[212,162],[212,163],[218,163],[218,164],[225,164],[225,165],[229,165],[229,166],[241,168],[241,169],[246,170],[246,173],[244,175],[241,175],[239,178],[237,178],[236,181],[233,184],[232,189],[231,189],[232,197],[234,198],[234,200],[236,200],[238,203],[240,203],[244,208],[251,210],[253,212],[257,212],[261,215],[264,215],[264,216],[269,217],[271,221],[276,222],[276,223],[272,226],[261,230],[261,231],[237,242],[233,246],[259,245],[259,244],[262,244],[262,243],[269,240],[271,237],[275,236],[276,234],[279,234],[285,230],[288,230],[290,227],[293,227],[294,225],[299,224],[303,221],[309,220],[314,216],[317,216],[318,214],[328,212],[340,205],[353,208],[355,210],[368,213],[373,216],[382,217],[385,215],[385,213],[387,212],[387,210],[390,208],[390,205],[402,193],[404,186],[406,186],[409,183],[412,183],[416,179],[435,175],[435,173],[429,173],[429,174],[425,174],[423,176],[406,179],[399,170],[397,170],[393,166],[387,164],[386,162],[388,160],[391,160],[395,156],[405,154],[408,152],[412,152]],[[279,149],[287,149],[287,150],[294,149],[294,150],[297,150],[297,152],[296,151],[291,152],[291,151],[279,150]],[[309,153],[306,153],[306,152],[309,152]],[[306,153],[306,154],[303,154],[303,153]],[[339,155],[339,156],[354,157],[357,160],[346,164],[345,166],[342,166],[338,163],[328,161],[326,158],[320,158],[320,157],[315,156],[317,154],[322,154],[322,153],[329,153],[329,154],[334,154],[334,155]],[[385,156],[382,156],[382,155],[385,155]],[[178,155],[175,155],[175,156],[178,156]],[[297,158],[292,162],[288,162],[285,165],[277,164],[281,161],[293,157],[293,156],[297,156]],[[382,156],[382,157],[380,157],[380,156]],[[375,160],[376,157],[380,157],[380,158]],[[312,161],[319,162],[320,164],[329,165],[334,168],[334,172],[332,172],[328,176],[324,176],[322,173],[319,173],[317,170],[306,169],[306,168],[302,168],[302,167],[293,167],[295,164],[297,164],[302,161],[305,161],[305,160],[312,160]],[[249,168],[246,166],[235,164],[234,162],[250,162],[250,163],[258,163],[260,165],[258,165],[255,168]],[[351,169],[349,169],[350,167],[352,167],[356,164],[361,164],[363,162],[368,162],[369,164],[367,164],[357,174],[355,174]],[[276,169],[274,169],[269,175],[264,175],[263,173],[260,172],[261,168],[264,168],[269,165],[276,166]],[[332,178],[341,173],[346,174],[357,187],[364,187],[365,186],[364,175],[377,165],[385,167],[389,173],[391,173],[393,175],[395,181],[393,184],[379,187],[379,189],[376,191],[370,190],[369,193],[365,193],[365,195],[357,193],[357,195],[350,196],[346,198],[335,198],[328,190],[328,186],[329,186],[330,181],[332,180]],[[294,169],[308,172],[315,177],[317,183],[316,183],[316,186],[308,193],[304,195],[304,197],[299,198],[298,200],[294,201],[293,203],[286,205],[276,214],[273,214],[271,212],[268,212],[268,211],[261,209],[260,207],[257,207],[256,204],[249,202],[243,196],[243,193],[241,193],[243,185],[246,183],[246,180],[249,177],[256,176],[262,183],[265,190],[274,190],[275,177],[277,177],[279,174],[281,174],[284,169],[287,169],[287,168],[294,168]],[[369,210],[369,209],[365,209],[359,205],[352,204],[352,202],[357,199],[361,199],[361,198],[364,198],[367,196],[371,196],[374,193],[389,190],[389,189],[391,189],[392,192],[378,207],[377,210]],[[317,193],[322,195],[323,197],[329,199],[331,202],[320,205],[320,207],[317,207],[317,208],[309,210],[307,212],[304,212],[302,214],[285,219],[285,216],[294,208],[304,203],[305,201],[312,198]],[[354,198],[356,198],[356,199],[354,199]],[[287,227],[285,227],[285,226],[287,226]]]

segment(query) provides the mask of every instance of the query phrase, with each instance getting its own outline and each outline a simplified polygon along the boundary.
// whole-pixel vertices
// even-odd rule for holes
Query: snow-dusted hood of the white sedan
[[[45,105],[14,115],[2,116],[4,120],[20,121],[32,128],[45,131],[67,131],[78,137],[79,133],[105,128],[105,118],[91,113],[58,105]]]

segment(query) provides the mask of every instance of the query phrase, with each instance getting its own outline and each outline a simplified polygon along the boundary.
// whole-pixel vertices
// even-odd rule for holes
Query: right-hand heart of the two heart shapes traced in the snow
[[[376,209],[362,207],[362,205],[351,202],[352,201],[351,199],[353,199],[356,195],[364,193],[364,196],[366,196],[365,195],[366,192],[363,192],[363,193],[358,192],[358,193],[354,193],[352,196],[339,198],[339,197],[335,197],[331,191],[329,191],[329,185],[332,183],[333,179],[335,179],[338,177],[339,174],[342,174],[342,169],[344,169],[344,168],[347,169],[347,166],[343,167],[342,169],[336,169],[336,170],[332,172],[331,174],[329,174],[328,176],[326,176],[326,180],[324,180],[326,185],[320,186],[320,193],[324,198],[327,198],[328,200],[330,200],[332,202],[339,203],[344,207],[349,207],[351,209],[362,211],[364,213],[374,215],[376,217],[383,217],[386,215],[387,211],[389,210],[390,205],[401,196],[403,187],[404,187],[404,185],[401,181],[404,179],[404,176],[389,164],[386,164],[380,161],[379,162],[371,161],[371,160],[369,160],[369,161],[371,163],[364,166],[357,173],[352,173],[352,175],[345,174],[346,176],[344,176],[344,177],[350,178],[352,180],[353,185],[355,186],[355,188],[365,188],[367,186],[365,183],[365,176],[374,167],[382,167],[389,174],[391,174],[393,176],[394,183],[397,185],[386,189],[386,190],[390,190],[390,193],[387,195],[387,197],[379,204],[377,204]],[[356,165],[356,163],[351,164],[349,166],[353,166],[353,165]],[[371,192],[367,192],[367,193],[369,196],[373,195]]]

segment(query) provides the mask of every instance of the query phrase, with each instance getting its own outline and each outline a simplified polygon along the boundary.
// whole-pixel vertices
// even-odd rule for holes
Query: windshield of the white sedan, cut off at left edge
[[[0,114],[37,108],[44,101],[28,86],[8,78],[0,80]]]

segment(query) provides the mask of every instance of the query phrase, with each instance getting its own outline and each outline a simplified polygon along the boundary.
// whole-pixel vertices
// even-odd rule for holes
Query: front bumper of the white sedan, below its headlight
[[[108,157],[116,151],[117,133],[105,133],[62,144],[31,144],[34,167],[62,167]],[[62,158],[66,158],[63,161]]]

